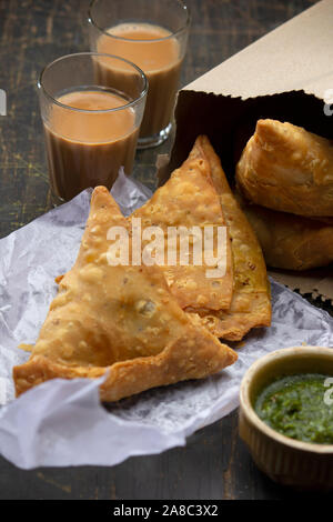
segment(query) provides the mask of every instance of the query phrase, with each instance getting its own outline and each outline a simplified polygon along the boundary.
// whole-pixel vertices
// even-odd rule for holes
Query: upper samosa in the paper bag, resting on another
[[[333,142],[291,123],[259,120],[236,168],[253,203],[309,217],[333,217]]]

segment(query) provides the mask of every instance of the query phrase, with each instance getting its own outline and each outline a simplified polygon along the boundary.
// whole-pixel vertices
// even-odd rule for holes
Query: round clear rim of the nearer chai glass
[[[85,56],[85,57],[115,58],[117,60],[127,62],[128,64],[133,67],[139,72],[139,74],[141,76],[142,80],[143,80],[143,88],[141,90],[140,96],[138,98],[135,98],[134,100],[130,101],[129,103],[124,103],[123,106],[114,107],[112,109],[79,109],[77,107],[72,107],[72,106],[69,106],[67,103],[62,103],[61,101],[59,101],[57,98],[54,98],[54,96],[50,94],[50,92],[46,89],[46,87],[43,84],[44,73],[49,70],[49,68],[51,68],[52,66],[54,66],[57,62],[59,62],[61,60],[65,60],[68,58],[74,58],[74,57],[83,57],[83,56]],[[91,113],[91,114],[93,114],[93,113],[101,114],[101,113],[117,112],[117,111],[121,111],[121,110],[124,110],[124,109],[135,107],[145,97],[149,86],[148,86],[148,78],[144,74],[144,72],[142,71],[142,69],[140,69],[140,67],[138,67],[135,63],[131,62],[130,60],[127,60],[125,58],[122,58],[122,57],[118,57],[115,54],[108,54],[105,52],[83,51],[83,52],[72,52],[70,54],[64,54],[64,56],[59,57],[56,60],[51,61],[50,63],[48,63],[42,69],[41,73],[39,74],[39,78],[38,78],[38,81],[37,81],[37,87],[40,91],[43,92],[43,94],[48,99],[50,99],[53,103],[61,107],[62,109],[68,109],[68,110],[70,109],[72,111],[85,112],[85,113]],[[78,87],[80,87],[80,86],[78,86]],[[95,87],[102,87],[102,86],[95,86]]]

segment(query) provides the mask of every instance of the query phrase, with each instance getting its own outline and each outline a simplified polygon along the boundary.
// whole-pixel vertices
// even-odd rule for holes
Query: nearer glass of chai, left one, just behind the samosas
[[[131,173],[148,91],[141,69],[109,54],[68,54],[44,68],[38,90],[53,204],[89,187],[111,189],[120,167]]]

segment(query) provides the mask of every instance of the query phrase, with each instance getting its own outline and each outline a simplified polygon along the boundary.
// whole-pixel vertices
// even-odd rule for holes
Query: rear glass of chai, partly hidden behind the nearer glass
[[[162,143],[171,130],[186,50],[186,6],[181,0],[93,0],[88,21],[91,50],[124,57],[144,71],[149,90],[138,145]],[[100,78],[108,83],[107,64]]]

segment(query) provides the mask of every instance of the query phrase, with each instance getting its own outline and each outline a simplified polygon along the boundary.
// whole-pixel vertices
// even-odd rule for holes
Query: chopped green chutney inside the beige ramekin
[[[333,444],[333,384],[324,385],[330,377],[303,373],[279,378],[259,393],[254,410],[285,436]]]

